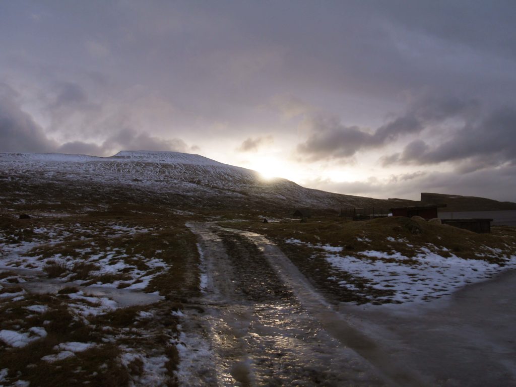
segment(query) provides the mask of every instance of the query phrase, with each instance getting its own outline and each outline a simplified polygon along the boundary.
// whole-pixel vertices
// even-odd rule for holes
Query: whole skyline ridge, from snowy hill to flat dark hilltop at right
[[[76,190],[77,196],[83,195],[81,191],[109,189],[114,199],[127,200],[127,196],[132,196],[132,200],[158,200],[186,207],[279,208],[284,211],[310,207],[339,211],[341,208],[390,208],[447,201],[448,206],[443,211],[473,211],[472,208],[479,211],[482,205],[486,210],[516,209],[516,203],[428,192],[422,193],[421,201],[332,193],[302,187],[282,178],[264,180],[259,172],[199,154],[168,151],[120,151],[108,157],[0,153],[0,173],[0,181],[9,182],[10,188],[20,193],[41,186],[57,196],[62,195],[63,187],[68,191]]]

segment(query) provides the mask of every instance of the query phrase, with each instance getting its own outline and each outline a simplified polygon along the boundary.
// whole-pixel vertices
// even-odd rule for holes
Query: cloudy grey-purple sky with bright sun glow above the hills
[[[0,2],[0,152],[516,202],[513,0]]]

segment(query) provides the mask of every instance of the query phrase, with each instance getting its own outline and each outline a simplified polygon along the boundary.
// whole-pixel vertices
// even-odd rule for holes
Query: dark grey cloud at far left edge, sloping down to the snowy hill
[[[56,144],[47,139],[41,126],[24,112],[17,93],[0,83],[0,152],[50,152]]]

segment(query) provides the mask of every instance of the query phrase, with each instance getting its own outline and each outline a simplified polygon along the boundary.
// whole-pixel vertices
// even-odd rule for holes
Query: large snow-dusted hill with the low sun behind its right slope
[[[178,152],[122,151],[110,157],[0,153],[0,183],[106,186],[196,199],[197,205],[262,203],[279,207],[386,206],[386,201],[304,188],[285,179],[264,180],[253,170]],[[2,183],[3,184],[3,183]]]

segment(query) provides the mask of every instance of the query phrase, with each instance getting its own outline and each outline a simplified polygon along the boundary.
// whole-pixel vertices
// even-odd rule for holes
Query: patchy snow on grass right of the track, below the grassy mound
[[[366,241],[367,238],[357,238]],[[422,302],[432,298],[449,295],[457,289],[474,282],[491,278],[496,273],[516,267],[516,256],[501,255],[501,249],[489,249],[492,255],[502,261],[501,264],[490,263],[485,254],[476,254],[482,259],[462,259],[444,247],[426,244],[414,247],[405,238],[386,237],[389,242],[404,243],[416,249],[413,257],[390,250],[365,250],[342,254],[342,247],[305,243],[299,239],[286,239],[286,243],[302,245],[312,249],[324,250],[319,256],[324,257],[334,271],[327,278],[336,285],[345,287],[369,298],[371,301],[388,301],[394,303]],[[387,249],[392,249],[386,245]],[[442,255],[446,255],[446,257]],[[386,294],[371,298],[368,289],[378,289]]]

